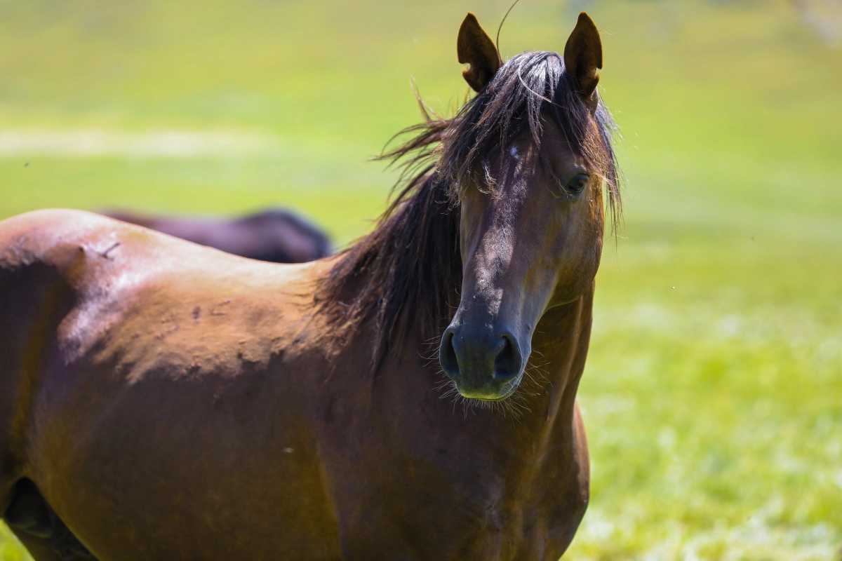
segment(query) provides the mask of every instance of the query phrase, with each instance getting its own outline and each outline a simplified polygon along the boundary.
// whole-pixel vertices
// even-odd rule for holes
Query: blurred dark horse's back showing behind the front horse
[[[236,220],[147,216],[125,211],[100,214],[260,261],[303,263],[333,253],[330,239],[322,230],[284,209],[268,209]]]

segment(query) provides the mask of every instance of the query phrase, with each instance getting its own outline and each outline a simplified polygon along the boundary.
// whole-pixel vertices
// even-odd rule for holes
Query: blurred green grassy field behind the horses
[[[456,30],[509,0],[0,0],[0,218],[291,206],[346,243],[366,161],[466,93]],[[581,389],[593,498],[565,558],[838,559],[839,0],[522,0],[504,56],[604,31],[626,225]],[[0,557],[25,558],[0,529]]]

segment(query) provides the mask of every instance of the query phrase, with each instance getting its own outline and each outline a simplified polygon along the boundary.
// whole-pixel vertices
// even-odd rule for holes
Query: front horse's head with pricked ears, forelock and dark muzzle
[[[440,364],[462,396],[498,401],[518,389],[541,316],[584,294],[600,264],[606,187],[616,201],[610,116],[596,89],[602,46],[586,13],[563,56],[502,62],[473,14],[457,46],[477,96],[440,146],[462,259]]]

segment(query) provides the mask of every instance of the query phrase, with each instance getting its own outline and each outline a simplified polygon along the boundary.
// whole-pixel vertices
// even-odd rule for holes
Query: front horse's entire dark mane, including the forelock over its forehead
[[[600,173],[615,228],[621,216],[615,124],[601,101],[592,116],[557,53],[514,56],[453,119],[421,108],[424,122],[398,134],[410,140],[381,156],[402,166],[392,204],[317,290],[317,306],[328,314],[339,347],[373,322],[373,368],[412,327],[431,339],[450,320],[462,278],[456,193],[472,182],[493,191],[494,156],[526,131],[540,146],[544,119],[553,119],[573,151]]]

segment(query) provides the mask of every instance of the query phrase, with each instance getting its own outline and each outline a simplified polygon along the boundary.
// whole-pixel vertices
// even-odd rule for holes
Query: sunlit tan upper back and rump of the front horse
[[[67,370],[97,348],[136,358],[133,376],[158,359],[224,369],[232,356],[265,355],[301,323],[312,273],[301,267],[76,210],[0,222],[0,418],[25,397],[15,397],[22,381],[35,387],[50,361]]]

